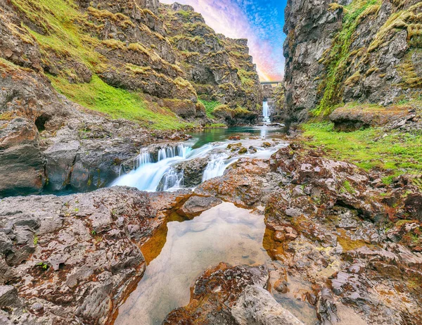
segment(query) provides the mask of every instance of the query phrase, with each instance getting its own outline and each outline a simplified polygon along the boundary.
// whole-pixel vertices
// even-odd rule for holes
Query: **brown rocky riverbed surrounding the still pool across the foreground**
[[[220,199],[264,216],[268,261],[212,266],[165,324],[422,321],[420,190],[295,141],[269,160],[241,158],[194,191],[1,200],[2,320],[108,324],[145,272],[148,239],[174,213],[201,218]]]

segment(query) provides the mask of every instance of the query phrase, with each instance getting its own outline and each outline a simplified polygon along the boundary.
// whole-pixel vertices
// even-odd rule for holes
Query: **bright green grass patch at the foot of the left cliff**
[[[168,109],[148,108],[139,94],[111,87],[97,75],[93,75],[87,84],[70,84],[63,77],[49,77],[53,87],[61,94],[79,105],[106,113],[114,119],[135,120],[153,129],[182,129],[191,126]]]

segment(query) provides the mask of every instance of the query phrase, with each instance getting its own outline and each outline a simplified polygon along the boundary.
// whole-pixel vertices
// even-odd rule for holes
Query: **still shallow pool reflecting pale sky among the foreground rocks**
[[[263,216],[231,203],[193,220],[168,222],[164,246],[120,307],[115,324],[161,324],[170,311],[189,302],[189,288],[198,276],[219,262],[264,264],[269,259],[262,248],[264,231]]]

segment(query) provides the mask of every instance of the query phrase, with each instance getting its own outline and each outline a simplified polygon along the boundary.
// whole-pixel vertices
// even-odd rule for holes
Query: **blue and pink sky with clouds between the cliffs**
[[[172,4],[174,0],[160,0]],[[261,81],[283,78],[284,8],[287,0],[177,0],[205,18],[217,33],[247,38]]]

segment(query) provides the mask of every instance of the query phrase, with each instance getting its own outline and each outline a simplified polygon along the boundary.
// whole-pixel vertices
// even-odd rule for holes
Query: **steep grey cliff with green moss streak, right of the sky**
[[[416,0],[289,0],[286,119],[350,102],[420,107],[421,12]]]

